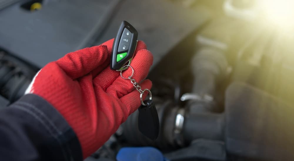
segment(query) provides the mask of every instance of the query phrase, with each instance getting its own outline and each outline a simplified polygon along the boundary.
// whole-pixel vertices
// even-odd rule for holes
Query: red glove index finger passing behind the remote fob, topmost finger
[[[142,50],[142,49],[146,49],[146,44],[143,41],[138,41],[135,55],[134,55],[134,59],[136,57],[136,53],[138,53],[138,51]],[[109,62],[110,62],[110,60],[109,60]],[[109,64],[109,62],[108,62],[108,64]],[[133,64],[133,62],[132,62],[132,64]],[[107,66],[103,71],[101,71],[101,73],[99,73],[94,78],[93,82],[95,83],[95,85],[101,86],[102,89],[104,91],[106,91],[106,88],[108,88],[114,82],[114,80],[116,80],[116,78],[118,78],[118,76],[120,76],[119,71],[113,71],[110,69],[110,66]]]

